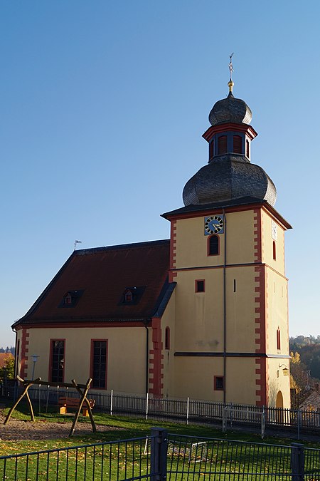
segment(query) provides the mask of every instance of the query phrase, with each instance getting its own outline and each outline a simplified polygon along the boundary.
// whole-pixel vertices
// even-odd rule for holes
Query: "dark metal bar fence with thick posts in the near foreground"
[[[314,481],[320,450],[168,434],[0,457],[1,480]]]

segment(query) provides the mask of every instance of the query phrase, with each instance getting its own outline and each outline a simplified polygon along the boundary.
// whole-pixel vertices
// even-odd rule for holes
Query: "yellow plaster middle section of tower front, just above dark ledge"
[[[255,352],[254,269],[226,269],[228,351]],[[195,292],[197,279],[205,292]],[[223,268],[179,271],[176,281],[176,350],[223,351]]]

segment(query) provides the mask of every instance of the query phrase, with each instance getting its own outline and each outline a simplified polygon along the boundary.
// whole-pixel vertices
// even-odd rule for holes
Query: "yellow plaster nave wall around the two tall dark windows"
[[[35,377],[49,378],[50,339],[65,339],[65,382],[85,383],[90,377],[92,339],[107,339],[107,390],[146,391],[146,329],[144,327],[28,329],[28,353],[39,356]],[[28,378],[32,375],[28,362]]]

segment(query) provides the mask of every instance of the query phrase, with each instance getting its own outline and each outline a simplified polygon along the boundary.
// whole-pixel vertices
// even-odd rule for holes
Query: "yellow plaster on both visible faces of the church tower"
[[[286,356],[288,351],[288,313],[287,279],[284,278],[284,229],[278,225],[277,259],[274,261],[272,218],[263,210],[261,218],[262,263],[267,264],[265,268],[266,350],[267,353]],[[208,256],[208,236],[203,234],[203,225],[203,216],[181,219],[176,222],[175,267],[177,274],[174,279],[177,281],[176,351],[213,353],[223,351],[225,234],[219,236],[220,254]],[[257,265],[255,264],[255,230],[253,210],[227,214],[227,268],[225,275],[228,352],[255,353],[255,349],[259,347],[256,344],[257,333],[255,332],[257,329],[256,308],[260,308],[260,304],[256,302],[259,293],[256,291],[258,283],[255,281],[258,276],[255,272]],[[197,279],[206,281],[204,293],[195,292]],[[278,326],[282,338],[279,351],[277,351]],[[213,376],[222,375],[221,361],[216,357],[176,357],[174,360],[176,380],[174,395],[221,400],[221,392],[212,392]],[[275,403],[274,392],[281,390],[284,405],[287,406],[289,384],[287,378],[283,380],[277,376],[276,368],[279,367],[279,359],[275,361],[275,364],[273,361],[267,364],[267,395],[270,397],[270,403]],[[228,358],[228,371],[229,369],[230,373],[227,376],[228,401],[255,404],[257,401],[255,358]],[[216,371],[219,370],[221,372],[217,373]]]

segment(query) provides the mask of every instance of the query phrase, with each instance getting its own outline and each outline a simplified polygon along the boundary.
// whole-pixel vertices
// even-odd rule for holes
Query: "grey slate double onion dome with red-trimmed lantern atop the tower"
[[[184,205],[230,202],[243,197],[274,205],[277,190],[265,170],[250,162],[251,141],[257,133],[248,125],[252,113],[247,104],[229,95],[210,112],[211,126],[203,134],[209,144],[208,165],[202,167],[183,189]]]

